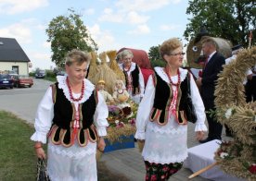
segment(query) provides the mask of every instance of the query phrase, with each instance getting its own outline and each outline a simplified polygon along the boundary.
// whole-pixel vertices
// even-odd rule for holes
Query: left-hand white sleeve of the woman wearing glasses
[[[135,139],[145,139],[145,130],[155,98],[155,86],[152,76],[148,78],[144,97],[139,104],[136,115]]]

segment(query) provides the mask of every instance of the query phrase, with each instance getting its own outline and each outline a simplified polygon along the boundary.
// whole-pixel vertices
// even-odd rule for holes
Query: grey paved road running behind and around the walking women
[[[0,90],[0,110],[12,112],[32,124],[37,105],[50,84],[50,81],[35,78],[32,88]],[[198,144],[192,124],[188,127],[187,142],[189,148]],[[137,148],[104,153],[100,161],[104,162],[112,172],[122,174],[131,181],[144,180],[145,166]],[[170,180],[184,181],[191,174],[191,171],[183,168],[176,175],[173,175]],[[200,176],[193,178],[193,181],[206,180],[208,179]]]

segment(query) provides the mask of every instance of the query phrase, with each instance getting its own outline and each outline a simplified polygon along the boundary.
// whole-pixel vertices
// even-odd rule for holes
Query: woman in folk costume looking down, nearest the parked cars
[[[38,105],[34,149],[45,158],[52,181],[97,180],[96,147],[103,151],[109,126],[107,104],[85,74],[90,55],[72,50],[66,57],[67,76],[57,77]]]

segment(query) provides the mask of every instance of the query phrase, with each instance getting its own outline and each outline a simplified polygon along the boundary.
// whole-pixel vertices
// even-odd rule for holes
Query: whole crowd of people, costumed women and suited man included
[[[195,80],[181,67],[185,55],[182,42],[169,39],[159,48],[166,66],[154,67],[147,82],[140,66],[132,61],[132,51],[122,50],[117,54],[117,62],[125,82],[116,82],[113,95],[104,90],[104,80],[95,86],[85,78],[91,59],[89,53],[70,51],[65,59],[67,74],[57,77],[38,105],[35,133],[31,138],[37,157],[47,158],[50,179],[97,180],[96,150],[104,151],[109,126],[106,102],[126,107],[125,102],[130,98],[139,104],[134,138],[144,145],[145,180],[168,180],[182,168],[188,156],[187,115],[191,114],[186,109],[188,93],[197,115],[196,139],[200,143],[222,139],[223,126],[216,117],[210,116],[210,111],[215,109],[214,90],[224,64],[236,58],[240,48],[234,47],[233,57],[225,60],[217,51],[216,42],[211,39],[202,42],[207,60],[201,77]],[[255,85],[255,70],[255,67],[249,70],[245,83],[248,102],[255,101],[255,92],[249,92],[250,84]],[[123,102],[119,99],[121,94],[127,98],[123,98]],[[208,136],[204,138],[208,129]],[[47,144],[47,156],[43,144]]]

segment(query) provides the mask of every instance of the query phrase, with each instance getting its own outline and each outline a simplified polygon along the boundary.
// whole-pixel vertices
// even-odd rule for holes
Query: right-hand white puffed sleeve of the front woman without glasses
[[[98,103],[96,105],[96,113],[94,115],[94,124],[96,126],[98,136],[104,137],[107,136],[106,127],[109,127],[109,123],[107,121],[109,109],[101,93],[97,92],[97,96]]]

